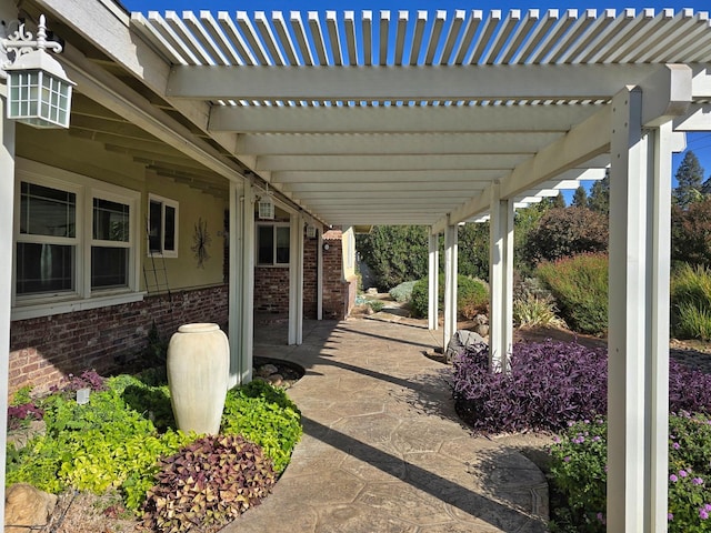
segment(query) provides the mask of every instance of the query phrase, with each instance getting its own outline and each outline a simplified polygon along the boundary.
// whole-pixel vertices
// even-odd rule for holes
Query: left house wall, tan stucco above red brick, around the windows
[[[153,321],[163,339],[182,323],[216,322],[227,328],[228,286],[223,278],[227,193],[219,198],[178,183],[147,171],[130,155],[107,151],[102,143],[67,131],[21,124],[17,131],[17,172],[21,179],[107,183],[137,195],[133,220],[138,228],[131,255],[137,275],[133,289],[119,290],[109,296],[59,294],[42,295],[31,302],[14,300],[9,394],[24,385],[48,389],[69,373],[88,369],[106,373],[119,368],[144,351]],[[157,259],[148,253],[149,194],[178,202],[176,258]],[[198,265],[193,250],[199,220],[207,223],[210,238],[206,247],[209,259],[202,266]],[[78,255],[86,253],[88,245],[88,241],[80,242]],[[79,273],[78,284],[83,282],[86,269]],[[152,281],[156,275],[161,278],[161,286]]]

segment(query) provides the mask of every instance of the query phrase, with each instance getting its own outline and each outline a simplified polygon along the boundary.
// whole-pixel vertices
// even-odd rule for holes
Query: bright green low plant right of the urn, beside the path
[[[301,412],[283,390],[252,381],[228,391],[221,432],[259,444],[282,472],[301,439]]]

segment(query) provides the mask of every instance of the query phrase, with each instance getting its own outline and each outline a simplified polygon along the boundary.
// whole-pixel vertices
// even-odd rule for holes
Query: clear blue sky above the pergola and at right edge
[[[653,8],[655,11],[662,8],[672,8],[674,11],[679,11],[682,8],[692,8],[694,11],[709,11],[711,4],[708,0],[694,0],[694,1],[670,1],[670,0],[631,0],[631,1],[612,1],[607,2],[582,2],[579,0],[548,0],[542,2],[534,1],[512,1],[512,0],[499,0],[497,2],[477,2],[470,3],[461,0],[261,0],[259,2],[240,2],[239,0],[120,0],[129,11],[141,11],[147,13],[148,11],[164,12],[172,11],[362,11],[372,10],[374,12],[380,10],[429,10],[434,11],[437,9],[444,9],[453,12],[455,9],[481,9],[484,12],[491,9],[501,9],[509,11],[511,9],[539,9],[541,11],[548,9],[597,9],[601,12],[603,9],[612,8],[618,12],[624,8],[634,8],[640,10],[642,8]],[[704,179],[711,177],[711,133],[694,133],[689,134],[687,138],[687,145],[689,150],[693,150],[694,154],[699,158],[701,165],[704,169]],[[683,153],[675,154],[673,158],[674,169],[679,165],[683,159]]]

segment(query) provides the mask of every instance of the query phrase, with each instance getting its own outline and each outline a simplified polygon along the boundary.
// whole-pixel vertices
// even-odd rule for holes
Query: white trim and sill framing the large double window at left
[[[13,213],[13,242],[12,242],[12,310],[11,320],[48,316],[52,314],[93,309],[127,301],[138,301],[143,298],[139,292],[140,280],[140,228],[139,207],[141,193],[123,187],[106,183],[86,175],[77,174],[62,169],[57,169],[37,161],[22,158],[16,159],[16,188]],[[77,247],[77,264],[74,269],[76,283],[73,292],[42,293],[30,295],[17,294],[17,257],[16,244],[32,242],[33,235],[20,235],[20,183],[27,181],[39,185],[70,191],[77,194],[77,228],[74,238],[57,238],[57,242],[73,242]],[[126,288],[91,289],[91,245],[101,243],[94,241],[92,235],[93,199],[119,201],[129,205],[129,242],[112,245],[129,249],[129,269]],[[37,238],[42,242],[52,238],[42,235]],[[128,299],[128,300],[127,300]]]

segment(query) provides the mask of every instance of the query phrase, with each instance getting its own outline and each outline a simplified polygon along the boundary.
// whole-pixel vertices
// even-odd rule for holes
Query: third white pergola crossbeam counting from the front
[[[594,115],[593,115],[594,117]],[[237,153],[256,155],[529,153],[561,133],[269,133],[240,134]]]

